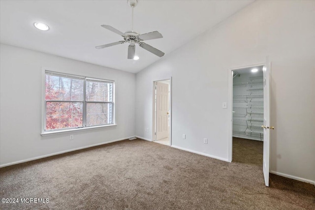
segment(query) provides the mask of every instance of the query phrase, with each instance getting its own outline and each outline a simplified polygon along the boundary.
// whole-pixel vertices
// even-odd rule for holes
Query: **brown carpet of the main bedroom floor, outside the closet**
[[[49,203],[0,209],[315,209],[314,185],[276,175],[270,185],[261,165],[126,140],[1,168],[0,198]]]

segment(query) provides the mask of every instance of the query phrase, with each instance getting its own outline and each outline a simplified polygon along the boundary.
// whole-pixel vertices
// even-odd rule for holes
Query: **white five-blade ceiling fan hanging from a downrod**
[[[129,4],[129,6],[131,6],[131,8],[132,8],[131,31],[126,31],[125,33],[123,33],[120,30],[117,30],[117,29],[115,29],[109,25],[101,25],[101,27],[121,35],[124,38],[124,41],[118,41],[118,42],[113,42],[110,44],[104,44],[104,45],[96,46],[95,48],[96,49],[102,49],[105,47],[111,47],[114,45],[123,44],[123,43],[127,42],[127,43],[129,43],[128,57],[127,57],[128,59],[134,58],[134,54],[135,54],[135,50],[136,50],[135,44],[138,44],[143,49],[153,53],[154,55],[157,55],[158,57],[164,56],[164,53],[162,51],[160,51],[160,50],[152,47],[151,45],[148,45],[148,44],[143,42],[144,40],[163,38],[162,34],[160,34],[158,31],[152,31],[149,33],[144,33],[144,34],[139,34],[135,31],[133,31],[133,8],[137,5],[138,0],[127,0],[127,2]]]

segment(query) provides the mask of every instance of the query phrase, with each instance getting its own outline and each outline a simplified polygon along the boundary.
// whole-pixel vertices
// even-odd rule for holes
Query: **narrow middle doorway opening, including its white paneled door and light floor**
[[[153,86],[153,141],[170,146],[171,80],[155,81]]]

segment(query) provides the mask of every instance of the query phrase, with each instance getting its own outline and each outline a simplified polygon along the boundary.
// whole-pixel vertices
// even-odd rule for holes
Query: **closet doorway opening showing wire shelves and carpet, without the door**
[[[262,166],[263,66],[233,71],[233,162]]]

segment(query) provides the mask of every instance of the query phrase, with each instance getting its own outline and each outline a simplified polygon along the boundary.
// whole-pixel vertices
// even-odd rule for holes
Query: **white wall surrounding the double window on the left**
[[[0,60],[0,165],[134,136],[135,74],[4,44]],[[42,137],[42,67],[115,80],[117,126]]]

